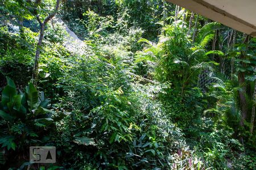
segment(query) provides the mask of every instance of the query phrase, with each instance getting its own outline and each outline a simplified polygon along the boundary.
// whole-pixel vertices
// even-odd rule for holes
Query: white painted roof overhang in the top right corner
[[[166,0],[256,37],[256,0]]]

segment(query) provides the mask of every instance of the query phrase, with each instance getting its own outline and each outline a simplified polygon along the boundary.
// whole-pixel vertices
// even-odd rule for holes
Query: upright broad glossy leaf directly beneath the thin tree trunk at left
[[[38,91],[32,83],[26,87],[28,111],[32,112],[38,107]]]

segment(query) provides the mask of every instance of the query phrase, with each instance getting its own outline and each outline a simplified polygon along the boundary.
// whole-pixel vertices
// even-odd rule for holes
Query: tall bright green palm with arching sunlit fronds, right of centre
[[[185,29],[179,25],[166,25],[158,43],[140,40],[147,44],[147,48],[137,53],[136,61],[143,59],[154,62],[156,78],[160,82],[170,82],[183,95],[187,88],[196,86],[201,70],[213,70],[213,65],[217,65],[208,59],[208,55],[222,53],[205,50],[213,36],[204,36],[199,44],[193,44]]]

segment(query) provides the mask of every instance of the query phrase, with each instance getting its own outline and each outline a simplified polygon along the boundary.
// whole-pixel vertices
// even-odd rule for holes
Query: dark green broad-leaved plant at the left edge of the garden
[[[44,99],[43,93],[39,97],[32,83],[24,93],[18,94],[13,80],[7,77],[0,104],[0,144],[5,150],[7,166],[17,164],[11,159],[16,155],[24,155],[22,162],[26,161],[28,155],[24,153],[29,146],[49,142],[49,129],[54,130],[54,122],[59,115],[47,109],[48,105],[49,100]]]

